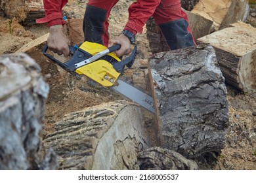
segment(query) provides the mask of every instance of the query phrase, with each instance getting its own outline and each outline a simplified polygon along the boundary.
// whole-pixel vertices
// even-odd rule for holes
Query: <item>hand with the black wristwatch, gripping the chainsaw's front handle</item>
[[[114,46],[114,44],[121,45],[121,48],[115,52],[117,57],[127,55],[131,52],[131,42],[129,41],[128,37],[123,34],[114,39],[110,39],[108,47]]]

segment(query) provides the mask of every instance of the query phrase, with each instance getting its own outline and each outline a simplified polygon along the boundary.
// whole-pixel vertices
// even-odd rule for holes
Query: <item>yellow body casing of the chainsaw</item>
[[[98,54],[98,52],[108,49],[102,44],[87,41],[83,42],[79,48],[93,56]],[[119,59],[114,52],[108,54],[108,56],[111,56],[117,61],[121,61],[121,59]],[[116,69],[114,69],[113,65],[104,59],[99,59],[97,61],[88,63],[87,65],[83,65],[82,67],[76,69],[75,73],[79,75],[86,75],[92,80],[95,80],[95,82],[98,82],[102,86],[106,87],[113,86],[114,82],[116,82],[120,75],[120,73],[117,73]]]

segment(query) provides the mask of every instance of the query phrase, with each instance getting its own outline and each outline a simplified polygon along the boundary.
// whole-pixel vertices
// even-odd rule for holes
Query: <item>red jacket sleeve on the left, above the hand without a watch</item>
[[[62,16],[62,8],[68,0],[43,0],[45,17],[37,19],[37,24],[48,23],[48,26],[65,24]]]

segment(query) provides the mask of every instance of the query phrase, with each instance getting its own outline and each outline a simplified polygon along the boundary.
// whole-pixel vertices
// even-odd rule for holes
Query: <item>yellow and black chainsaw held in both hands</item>
[[[85,41],[80,46],[69,46],[71,59],[62,62],[47,53],[48,45],[45,44],[43,55],[69,73],[85,75],[154,113],[152,97],[119,78],[125,66],[131,69],[137,55],[137,46],[130,56],[122,60],[114,53],[119,48],[120,44],[107,48],[102,44]]]

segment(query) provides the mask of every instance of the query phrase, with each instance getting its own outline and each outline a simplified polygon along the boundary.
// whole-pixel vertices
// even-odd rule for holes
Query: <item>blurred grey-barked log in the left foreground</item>
[[[0,169],[56,169],[54,152],[43,159],[42,134],[49,86],[26,54],[0,57]]]

